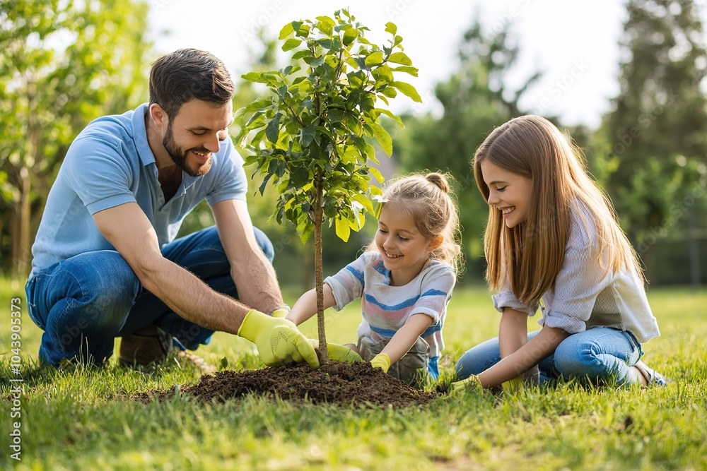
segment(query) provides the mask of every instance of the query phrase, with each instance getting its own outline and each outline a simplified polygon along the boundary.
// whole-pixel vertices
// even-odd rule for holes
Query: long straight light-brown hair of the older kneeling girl
[[[489,206],[484,234],[486,280],[501,290],[506,280],[521,302],[538,302],[554,287],[562,266],[571,214],[589,231],[595,227],[599,259],[604,269],[626,267],[643,273],[636,252],[621,231],[611,201],[590,179],[583,155],[550,121],[539,116],[511,119],[494,129],[474,154],[474,178],[489,200],[481,174],[488,160],[502,169],[532,179],[525,221],[506,227],[501,211]],[[588,215],[588,218],[585,216]],[[607,266],[605,263],[608,261]]]

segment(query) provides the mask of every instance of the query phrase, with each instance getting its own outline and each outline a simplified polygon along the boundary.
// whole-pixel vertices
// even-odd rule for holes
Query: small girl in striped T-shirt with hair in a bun
[[[324,280],[325,309],[361,298],[358,343],[348,344],[388,374],[413,382],[438,377],[442,327],[460,263],[457,208],[447,179],[431,173],[395,181],[383,193],[375,240],[353,263]],[[317,310],[316,292],[287,318],[300,324]]]

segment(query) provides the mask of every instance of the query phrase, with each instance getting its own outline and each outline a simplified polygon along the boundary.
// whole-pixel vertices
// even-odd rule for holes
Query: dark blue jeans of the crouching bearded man
[[[270,240],[259,229],[255,229],[255,237],[272,261]],[[162,254],[217,292],[238,299],[216,227],[176,239],[163,246]],[[214,333],[181,318],[144,290],[117,251],[86,252],[55,263],[30,278],[25,292],[30,317],[45,331],[40,361],[54,366],[64,358],[103,363],[112,355],[116,337],[150,324],[172,334],[190,350],[209,343]]]

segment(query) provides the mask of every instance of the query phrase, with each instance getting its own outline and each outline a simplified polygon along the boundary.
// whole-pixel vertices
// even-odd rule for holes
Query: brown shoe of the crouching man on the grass
[[[147,326],[130,335],[124,335],[120,342],[119,362],[123,366],[160,364],[170,358],[174,358],[179,364],[192,364],[201,374],[216,371],[214,366],[207,364],[197,354],[175,347],[172,335],[156,326]]]

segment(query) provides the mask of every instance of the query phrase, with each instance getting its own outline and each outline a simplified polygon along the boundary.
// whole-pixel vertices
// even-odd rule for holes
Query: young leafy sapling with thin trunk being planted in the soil
[[[247,73],[248,81],[265,83],[271,96],[256,100],[240,110],[237,117],[252,113],[238,138],[255,154],[247,163],[257,162],[265,175],[264,191],[274,177],[279,199],[273,216],[277,222],[292,222],[305,242],[315,239],[315,287],[320,357],[327,362],[322,267],[322,225],[333,222],[337,235],[346,241],[351,230],[358,231],[365,214],[373,213],[368,194],[381,194],[371,186],[369,174],[382,181],[373,145],[363,136],[374,138],[387,155],[392,153],[390,135],[380,126],[385,114],[402,125],[387,109],[375,106],[378,100],[403,93],[416,101],[420,97],[408,83],[395,80],[396,72],[417,75],[409,57],[402,52],[402,37],[387,23],[391,40],[378,47],[364,37],[368,30],[348,11],[334,18],[318,16],[315,21],[293,21],[280,32],[286,40],[284,51],[296,50],[293,61],[280,71]],[[288,38],[288,39],[287,39]],[[397,50],[399,49],[399,50]],[[250,137],[250,133],[255,136]]]

